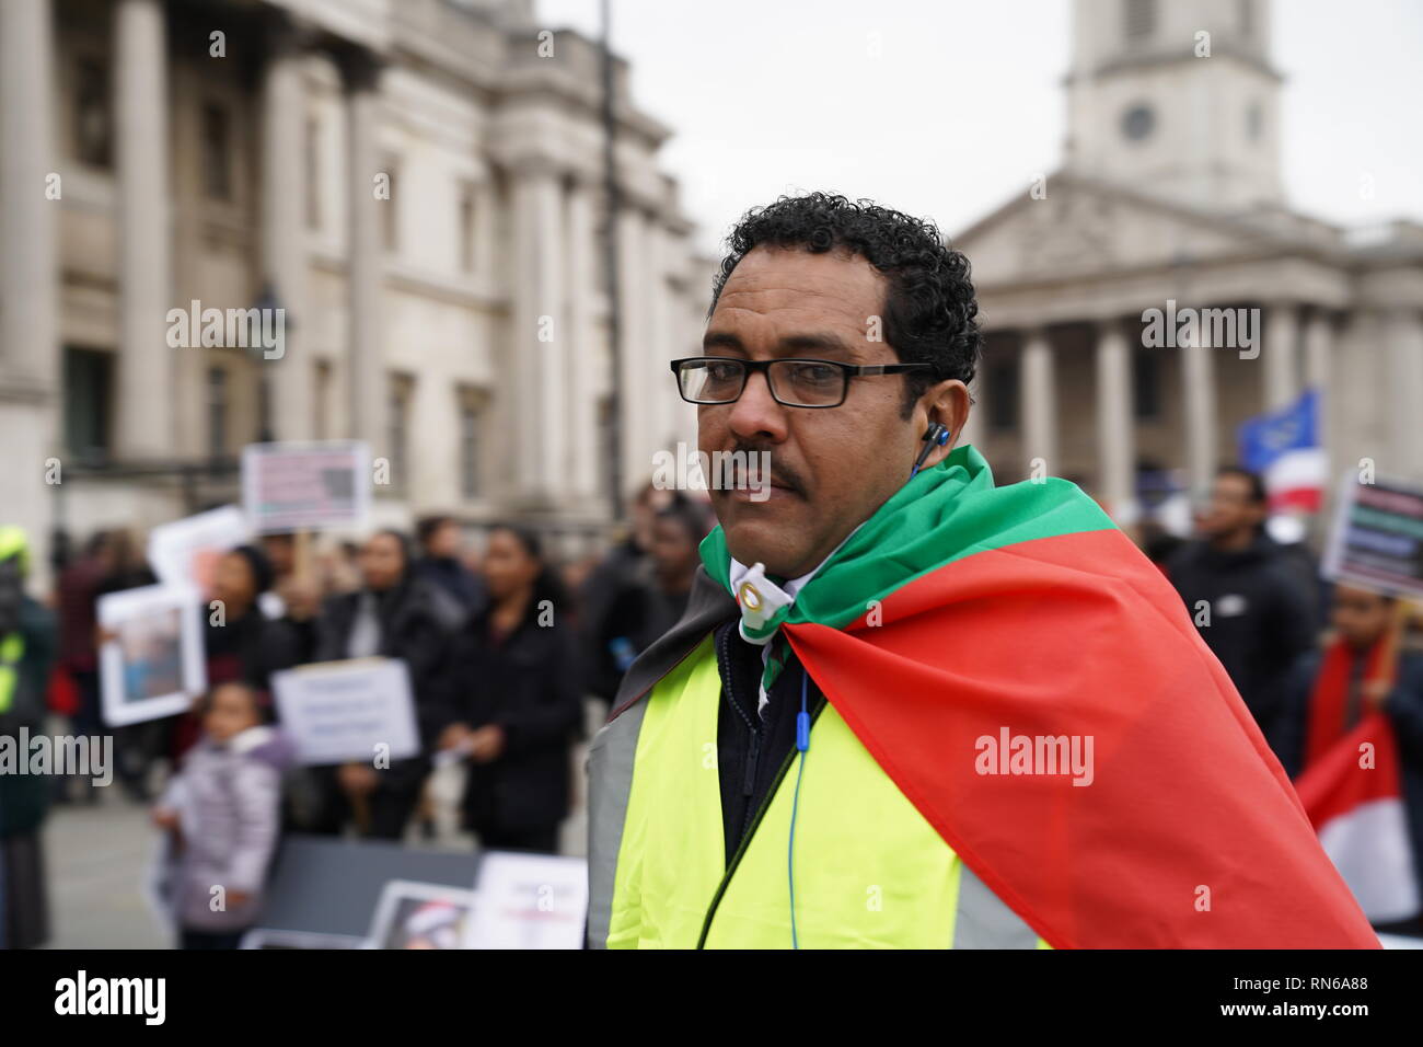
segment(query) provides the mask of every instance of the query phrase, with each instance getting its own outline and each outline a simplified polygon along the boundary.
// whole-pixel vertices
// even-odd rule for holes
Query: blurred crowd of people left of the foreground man
[[[36,732],[60,715],[75,735],[115,736],[117,782],[152,805],[155,826],[171,838],[182,944],[232,947],[259,909],[283,832],[433,835],[427,783],[440,754],[467,769],[461,825],[480,846],[556,852],[586,702],[596,709],[601,699],[606,712],[626,665],[680,617],[713,523],[704,501],[649,486],[632,506],[626,538],[602,560],[558,563],[544,536],[518,524],[487,528],[475,548],[448,516],[320,556],[307,556],[297,536],[263,536],[216,558],[206,600],[194,610],[206,692],[184,714],[117,729],[101,712],[105,635],[95,608],[102,595],[154,575],[135,536],[101,531],[60,566],[53,614],[24,595],[24,571],[11,557],[10,591],[24,601],[33,671],[26,699],[6,715]],[[388,766],[297,766],[273,674],[364,657],[406,664],[420,752]],[[28,946],[47,937],[44,809],[100,796],[78,773],[46,782],[44,795],[20,796],[10,785],[0,781],[10,922],[0,940]],[[238,872],[223,882],[218,868]],[[216,909],[213,883],[228,892]]]

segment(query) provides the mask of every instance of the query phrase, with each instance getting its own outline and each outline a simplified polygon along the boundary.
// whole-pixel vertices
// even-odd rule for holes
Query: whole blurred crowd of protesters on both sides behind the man
[[[1325,585],[1301,547],[1268,537],[1265,519],[1259,479],[1227,467],[1198,507],[1195,540],[1141,544],[1292,778],[1362,717],[1387,714],[1423,869],[1423,654],[1400,635],[1392,597]],[[704,501],[649,486],[626,537],[601,560],[555,563],[539,533],[515,524],[488,528],[475,551],[445,516],[420,520],[413,536],[379,530],[342,543],[310,563],[290,534],[222,554],[209,597],[223,615],[202,608],[208,692],[185,714],[112,731],[120,786],[154,805],[179,856],[182,944],[236,943],[283,832],[390,840],[433,832],[425,789],[441,752],[467,768],[461,822],[482,846],[556,852],[585,702],[605,718],[632,661],[682,615],[713,524]],[[63,714],[75,735],[110,732],[95,605],[154,581],[138,548],[124,530],[94,534],[61,566],[46,607],[24,593],[24,536],[0,528],[0,731],[41,731]],[[380,769],[297,768],[275,722],[273,674],[374,655],[408,667],[420,752]],[[47,936],[46,808],[95,799],[81,775],[0,778],[0,944]],[[228,870],[229,895],[215,910],[218,869]],[[1419,919],[1389,930],[1423,934]]]

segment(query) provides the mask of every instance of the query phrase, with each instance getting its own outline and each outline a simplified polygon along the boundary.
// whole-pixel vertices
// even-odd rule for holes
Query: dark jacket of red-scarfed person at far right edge
[[[1362,658],[1356,661],[1363,662]],[[1271,745],[1291,779],[1299,778],[1303,771],[1305,745],[1309,739],[1309,698],[1322,662],[1322,651],[1301,655],[1281,688],[1279,719]],[[1423,654],[1399,654],[1397,681],[1383,699],[1383,711],[1399,741],[1399,772],[1413,843],[1413,869],[1423,883]]]

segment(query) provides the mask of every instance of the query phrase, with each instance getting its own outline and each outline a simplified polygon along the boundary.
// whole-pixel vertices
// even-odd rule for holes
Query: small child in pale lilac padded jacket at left
[[[292,754],[262,722],[258,692],[246,684],[218,685],[199,715],[202,741],[158,802],[154,823],[172,838],[181,946],[235,949],[262,909]]]

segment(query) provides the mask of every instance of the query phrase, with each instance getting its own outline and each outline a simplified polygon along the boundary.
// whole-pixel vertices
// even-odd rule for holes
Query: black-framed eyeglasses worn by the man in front
[[[743,360],[737,356],[689,356],[672,362],[677,392],[687,403],[736,403],[754,372],[766,373],[776,402],[787,407],[838,407],[850,379],[932,370],[932,363],[840,363],[837,360]]]

